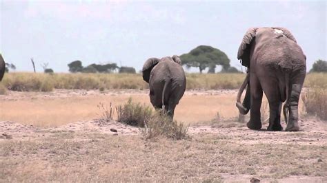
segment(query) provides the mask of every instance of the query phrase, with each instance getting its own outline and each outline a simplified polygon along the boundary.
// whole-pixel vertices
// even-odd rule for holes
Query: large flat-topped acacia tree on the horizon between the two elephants
[[[200,73],[209,67],[208,73],[215,73],[217,65],[221,65],[224,70],[230,67],[228,56],[221,50],[208,45],[199,45],[188,54],[180,56],[181,63],[186,67],[199,67]]]

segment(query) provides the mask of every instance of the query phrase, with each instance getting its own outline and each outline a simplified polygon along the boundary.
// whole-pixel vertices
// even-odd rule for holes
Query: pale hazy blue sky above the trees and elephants
[[[326,59],[326,1],[8,1],[0,0],[0,52],[17,72],[42,63],[117,63],[141,70],[150,57],[180,55],[198,45],[237,50],[252,27],[284,27],[307,57]],[[197,72],[190,69],[188,72]]]

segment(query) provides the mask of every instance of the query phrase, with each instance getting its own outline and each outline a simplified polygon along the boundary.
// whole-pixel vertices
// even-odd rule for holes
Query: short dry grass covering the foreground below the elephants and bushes
[[[144,142],[138,136],[60,132],[1,140],[0,182],[221,182],[228,177],[249,182],[250,177],[327,176],[326,146],[247,144],[235,138],[233,133],[203,134]]]

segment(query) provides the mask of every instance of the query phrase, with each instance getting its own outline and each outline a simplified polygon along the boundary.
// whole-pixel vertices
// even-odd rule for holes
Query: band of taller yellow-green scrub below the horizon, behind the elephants
[[[186,74],[187,89],[238,89],[245,74]],[[141,74],[8,73],[3,85],[14,91],[50,92],[52,89],[147,89]],[[327,74],[310,73],[304,87],[327,88]]]

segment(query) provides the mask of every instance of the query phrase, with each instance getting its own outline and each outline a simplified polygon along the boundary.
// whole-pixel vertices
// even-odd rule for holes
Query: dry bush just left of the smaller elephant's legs
[[[152,116],[150,107],[140,103],[133,103],[132,98],[129,98],[125,105],[116,107],[116,111],[117,121],[137,127],[144,127],[146,120]]]

